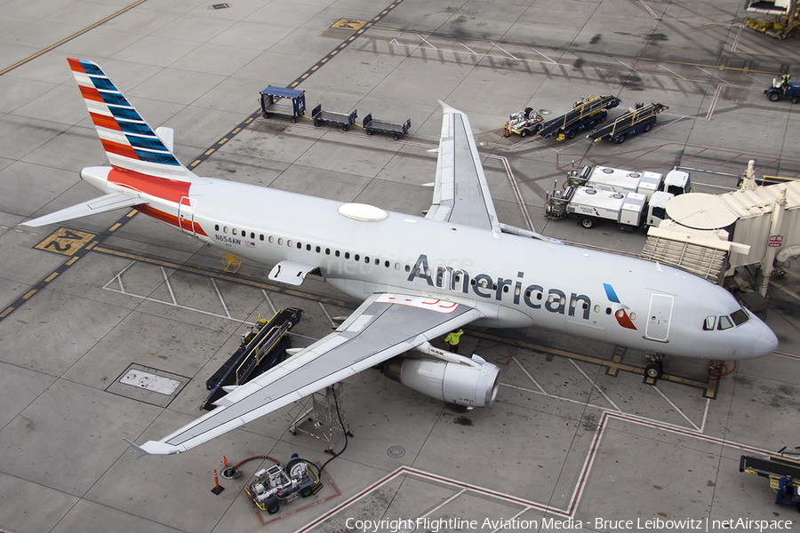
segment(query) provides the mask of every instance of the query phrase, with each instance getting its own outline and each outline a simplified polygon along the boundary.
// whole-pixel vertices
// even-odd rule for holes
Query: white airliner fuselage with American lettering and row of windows
[[[84,169],[84,178],[95,187],[130,192],[91,179],[92,171],[100,169]],[[703,330],[708,316],[739,310],[736,299],[650,261],[395,212],[380,221],[351,219],[340,214],[341,202],[222,179],[192,183],[189,197],[180,206],[183,219],[194,222],[181,225],[187,233],[260,263],[318,267],[355,298],[426,295],[476,306],[486,317],[479,325],[536,326],[712,360],[762,356],[776,343],[749,313],[739,326]],[[179,215],[177,203],[147,199],[149,207]]]

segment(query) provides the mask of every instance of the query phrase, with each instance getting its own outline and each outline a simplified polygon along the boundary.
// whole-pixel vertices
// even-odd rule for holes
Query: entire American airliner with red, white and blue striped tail
[[[708,360],[761,357],[778,346],[764,322],[713,283],[500,224],[467,115],[445,104],[433,204],[420,218],[199,177],[172,155],[172,130],[153,131],[96,63],[68,61],[111,163],[81,177],[105,195],[25,225],[133,208],[274,265],[276,282],[300,285],[318,274],[364,300],[333,333],[229,390],[216,409],[160,441],[129,442],[134,457],[194,448],[390,359],[387,373],[414,390],[491,404],[495,365],[428,344],[470,323],[537,326]],[[399,357],[412,349],[428,357]],[[647,371],[658,376],[660,359]]]

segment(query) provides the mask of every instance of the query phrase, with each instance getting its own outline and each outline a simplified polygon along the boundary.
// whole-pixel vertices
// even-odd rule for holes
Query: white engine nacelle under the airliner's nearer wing
[[[383,373],[418,393],[468,407],[492,405],[500,388],[500,369],[491,362],[472,367],[456,362],[395,357],[385,362]]]

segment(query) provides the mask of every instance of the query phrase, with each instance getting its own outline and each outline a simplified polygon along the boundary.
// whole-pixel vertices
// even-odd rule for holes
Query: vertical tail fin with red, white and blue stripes
[[[68,61],[112,167],[179,181],[196,178],[172,155],[172,131],[159,128],[159,136],[97,63]]]

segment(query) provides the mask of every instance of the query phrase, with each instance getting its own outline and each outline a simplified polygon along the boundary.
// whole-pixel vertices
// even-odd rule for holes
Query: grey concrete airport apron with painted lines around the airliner
[[[647,385],[644,354],[535,328],[462,341],[501,368],[492,408],[444,405],[377,370],[348,378],[354,436],[335,443],[347,449],[324,489],[269,515],[243,488],[270,461],[243,465],[219,496],[213,471],[223,457],[328,460],[324,442],[288,431],[291,409],[177,457],[137,461],[121,439],[157,440],[199,416],[205,380],[259,315],[304,309],[292,343],[308,346],[360,302],[314,277],[276,286],[271,266],[225,272],[221,251],[135,211],[17,226],[100,195],[79,178],[107,160],[68,68],[77,57],[99,62],[151,125],[173,128],[197,173],[412,214],[431,202],[441,99],[468,113],[501,222],[636,254],[644,233],[544,218],[565,171],[681,166],[713,194],[736,187],[750,159],[758,174],[800,175],[800,107],[761,92],[781,72],[800,76],[797,37],[745,28],[742,4],[0,4],[0,530],[796,529],[769,481],[739,472],[743,454],[800,445],[794,266],[770,286],[779,353],[718,380],[668,358]],[[270,84],[306,91],[309,109],[412,129],[394,140],[265,119],[257,97]],[[588,94],[622,99],[612,115],[636,102],[668,110],[623,144],[503,137],[509,114],[560,114]],[[134,375],[174,386],[151,392]]]

